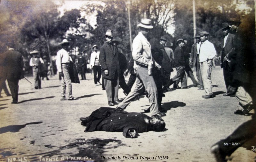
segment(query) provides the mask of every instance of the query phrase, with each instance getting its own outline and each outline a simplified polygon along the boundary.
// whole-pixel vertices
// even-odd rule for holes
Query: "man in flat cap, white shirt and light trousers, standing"
[[[211,73],[212,59],[216,56],[216,50],[214,45],[207,40],[209,35],[208,32],[200,32],[199,35],[201,39],[201,45],[199,48],[199,62],[204,84],[204,91],[206,92],[206,94],[202,97],[205,99],[209,99],[214,97],[212,93]]]

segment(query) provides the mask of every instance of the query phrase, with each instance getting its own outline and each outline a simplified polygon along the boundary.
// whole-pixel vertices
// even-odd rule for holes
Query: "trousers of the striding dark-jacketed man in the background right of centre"
[[[176,67],[176,71],[177,74],[169,80],[169,82],[167,83],[167,87],[169,87],[173,83],[176,83],[176,85],[178,86],[179,82],[181,82],[181,87],[188,87],[188,77],[186,76],[185,73],[185,67],[178,66]]]

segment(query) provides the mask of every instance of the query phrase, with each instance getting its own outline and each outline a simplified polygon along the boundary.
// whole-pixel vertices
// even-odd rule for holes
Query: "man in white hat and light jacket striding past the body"
[[[148,92],[148,99],[150,102],[150,112],[151,116],[166,116],[166,114],[161,113],[158,108],[157,102],[157,88],[152,75],[148,74],[148,65],[155,63],[157,68],[161,68],[152,57],[151,46],[148,42],[148,36],[151,26],[151,20],[147,18],[141,19],[141,23],[138,24],[140,32],[134,38],[132,42],[132,57],[134,59],[134,70],[136,74],[135,83],[132,86],[131,92],[127,97],[116,107],[117,109],[125,109],[129,103],[131,103],[136,97],[139,96],[140,91],[142,91],[143,86]]]

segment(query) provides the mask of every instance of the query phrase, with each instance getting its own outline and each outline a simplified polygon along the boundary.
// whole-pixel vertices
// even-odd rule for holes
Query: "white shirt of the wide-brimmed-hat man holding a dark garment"
[[[61,49],[57,52],[56,57],[56,66],[58,69],[58,72],[62,72],[61,64],[62,63],[69,63],[72,61],[72,58],[69,56],[68,52],[65,49]]]

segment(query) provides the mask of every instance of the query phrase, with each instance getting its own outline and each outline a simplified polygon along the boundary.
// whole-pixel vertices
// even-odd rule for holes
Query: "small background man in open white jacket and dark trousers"
[[[93,70],[93,78],[94,78],[94,84],[95,86],[100,83],[100,77],[101,77],[101,68],[100,68],[100,62],[99,62],[99,58],[100,58],[100,51],[98,51],[98,46],[95,44],[92,46],[92,54],[91,54],[91,59],[90,59],[90,64]],[[98,77],[97,77],[98,74]],[[103,83],[102,83],[103,84]]]

